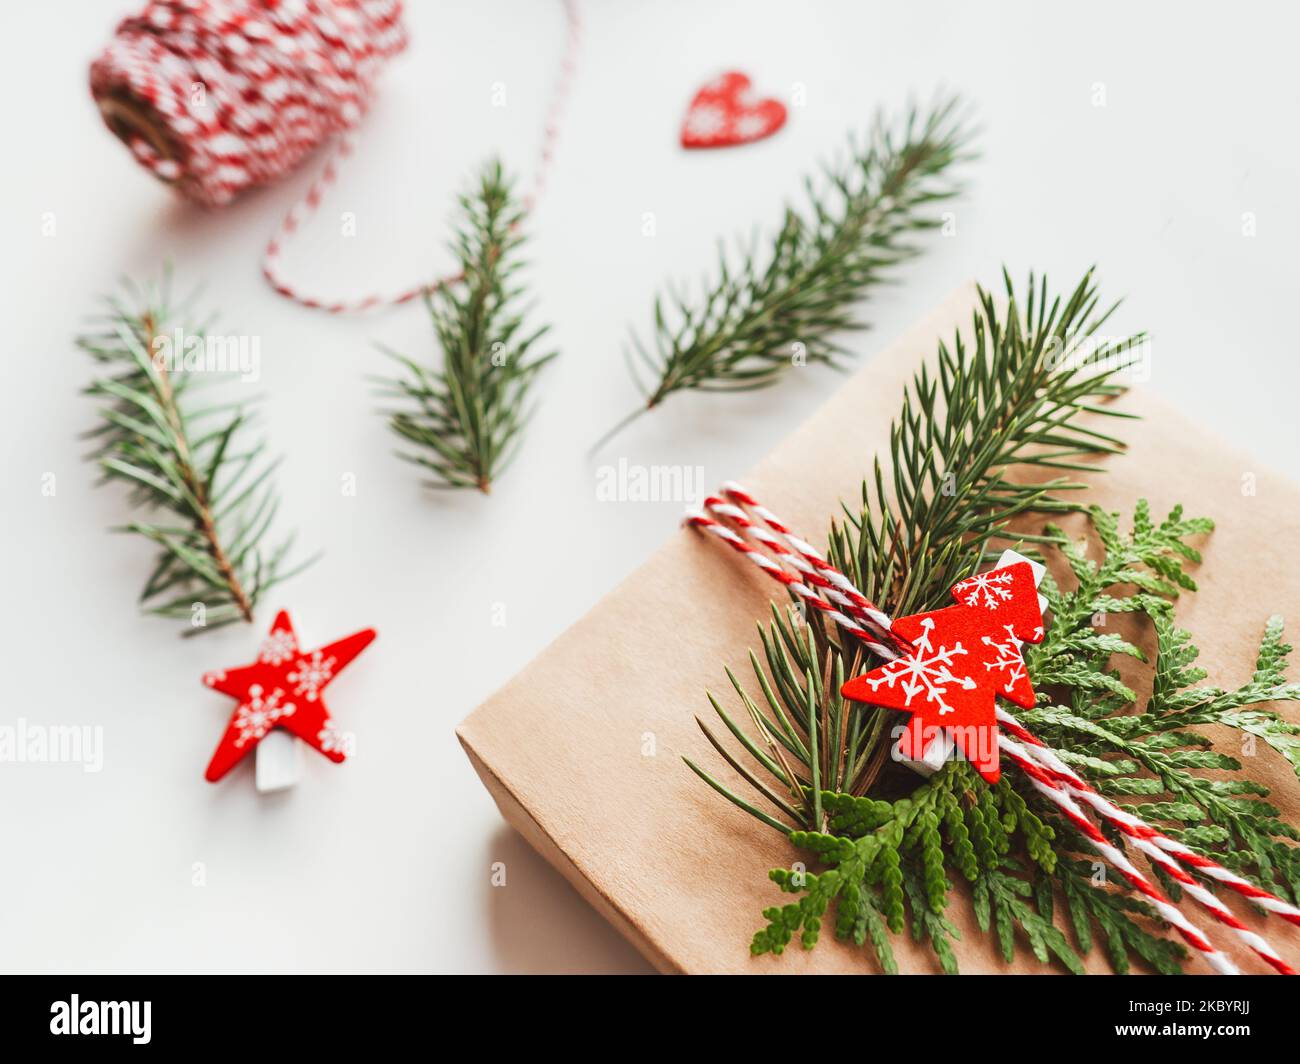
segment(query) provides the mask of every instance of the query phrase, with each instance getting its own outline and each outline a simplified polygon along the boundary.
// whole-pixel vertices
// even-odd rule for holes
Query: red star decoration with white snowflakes
[[[291,731],[330,761],[343,761],[346,739],[321,693],[373,639],[374,630],[365,628],[308,653],[299,649],[289,613],[281,610],[257,661],[204,674],[208,687],[239,701],[208,764],[207,779],[221,779],[272,728]]]

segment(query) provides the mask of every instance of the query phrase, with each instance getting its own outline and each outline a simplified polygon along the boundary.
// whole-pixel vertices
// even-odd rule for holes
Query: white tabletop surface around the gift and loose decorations
[[[493,150],[532,168],[559,5],[410,7],[412,46],[287,258],[328,293],[443,268],[451,196],[471,168]],[[599,464],[703,466],[711,485],[836,386],[806,369],[755,397],[676,397],[585,457],[637,401],[623,338],[645,329],[660,282],[697,278],[718,237],[775,224],[800,176],[909,90],[965,92],[983,159],[967,168],[957,234],[870,306],[863,358],[967,277],[996,282],[1006,263],[1063,286],[1096,261],[1104,291],[1127,297],[1118,325],[1154,336],[1144,386],[1296,475],[1300,26],[1277,4],[1206,7],[584,3],[575,94],[532,221],[540,313],[563,355],[523,455],[482,498],[422,490],[373,412],[365,375],[385,363],[373,343],[430,356],[422,311],[338,320],[260,280],[263,242],[312,166],[221,212],[174,202],[86,90],[90,59],[131,5],[6,4],[0,725],[100,725],[104,767],[0,764],[0,966],[646,970],[502,825],[452,728],[672,531],[679,505],[598,502]],[[729,68],[785,99],[802,85],[806,104],[763,144],[682,152],[686,101]],[[491,107],[494,83],[504,108]],[[343,211],[358,217],[352,239],[338,237]],[[207,281],[226,329],[260,337],[264,427],[286,457],[283,527],[325,550],[260,620],[291,606],[307,646],[380,631],[332,688],[356,758],[308,752],[302,784],[278,797],[255,793],[251,760],[218,786],[202,778],[231,704],[199,675],[248,659],[261,632],[182,641],[135,613],[150,550],[105,531],[129,511],[116,488],[94,488],[75,438],[94,424],[78,395],[91,372],[72,343],[78,321],[120,273],[164,258],[183,282]],[[57,493],[44,497],[51,472]],[[342,494],[347,473],[355,497]],[[489,886],[494,861],[504,888]],[[195,862],[205,886],[192,884]]]

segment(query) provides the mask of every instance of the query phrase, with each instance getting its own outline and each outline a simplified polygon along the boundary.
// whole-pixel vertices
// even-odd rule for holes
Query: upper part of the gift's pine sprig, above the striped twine
[[[1131,416],[1108,403],[1145,333],[1102,333],[1118,303],[1101,304],[1092,271],[1050,300],[1045,278],[1030,274],[1023,295],[1005,272],[1004,285],[1006,308],[980,289],[970,337],[940,343],[937,372],[916,373],[888,463],[876,459],[861,506],[831,532],[832,561],[898,615],[944,605],[1013,518],[1079,509],[1069,473],[1096,472],[1091,458],[1123,447],[1084,419]],[[1046,479],[1013,483],[1013,466]]]

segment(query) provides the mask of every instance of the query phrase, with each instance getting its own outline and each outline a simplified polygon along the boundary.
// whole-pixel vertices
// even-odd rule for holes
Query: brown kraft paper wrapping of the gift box
[[[840,501],[859,498],[872,457],[887,453],[904,385],[923,359],[933,359],[940,338],[950,341],[968,326],[974,307],[974,285],[950,295],[742,483],[824,546]],[[1154,372],[1176,369],[1157,366]],[[1128,453],[1106,459],[1108,471],[1091,477],[1089,497],[1124,512],[1145,497],[1157,515],[1183,502],[1190,515],[1216,520],[1204,544],[1206,565],[1195,574],[1200,591],[1183,596],[1178,618],[1201,648],[1208,682],[1243,683],[1269,614],[1286,615],[1292,635],[1300,633],[1300,568],[1286,557],[1300,490],[1210,438],[1141,385],[1124,403],[1143,420],[1122,424]],[[1253,494],[1243,492],[1247,473],[1254,477]],[[1078,520],[1063,524],[1083,531]],[[733,705],[723,666],[749,675],[755,623],[780,596],[775,583],[716,540],[681,529],[458,730],[506,819],[663,972],[878,970],[870,948],[836,942],[829,924],[811,952],[796,940],[781,957],[749,955],[749,940],[763,926],[760,909],[789,900],[767,870],[798,855],[681,761],[689,756],[746,792],[694,718],[712,718],[706,688]],[[1139,627],[1126,635],[1141,643],[1148,633]],[[1300,667],[1294,665],[1291,675]],[[1296,706],[1282,710],[1300,719]],[[642,753],[647,732],[655,744],[649,757]],[[1214,738],[1219,749],[1240,756],[1240,743],[1226,730]],[[1286,761],[1260,744],[1243,764],[1273,791],[1283,818],[1300,823],[1300,780]],[[1277,918],[1265,924],[1235,898],[1228,904],[1300,966],[1300,929]],[[1184,909],[1243,970],[1268,970],[1202,911],[1191,903]],[[1058,970],[1040,965],[1023,942],[1017,964],[1005,964],[993,938],[975,926],[961,887],[949,916],[962,929],[956,943],[962,972]],[[907,935],[894,937],[894,951],[905,972],[937,970],[928,947]],[[1091,970],[1109,970],[1098,951],[1087,961]],[[1208,968],[1192,957],[1187,970]]]

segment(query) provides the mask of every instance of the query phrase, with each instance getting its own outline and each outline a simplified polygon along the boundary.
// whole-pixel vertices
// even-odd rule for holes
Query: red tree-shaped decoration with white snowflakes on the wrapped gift
[[[989,783],[998,779],[997,696],[1034,705],[1022,643],[1043,641],[1043,611],[1028,562],[956,584],[956,606],[913,614],[892,631],[910,653],[842,687],[845,698],[910,713],[898,752],[920,760],[946,731]]]

